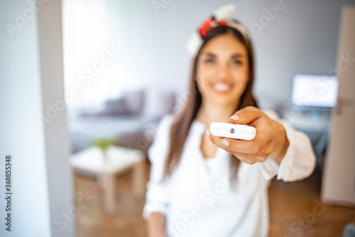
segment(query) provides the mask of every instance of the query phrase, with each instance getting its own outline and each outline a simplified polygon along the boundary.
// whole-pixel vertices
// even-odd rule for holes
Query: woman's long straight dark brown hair
[[[235,21],[235,23],[239,23]],[[257,107],[256,100],[253,98],[252,89],[254,81],[254,59],[253,59],[253,47],[251,46],[251,41],[249,36],[246,36],[245,33],[237,31],[235,28],[229,26],[217,26],[208,31],[207,36],[204,38],[204,42],[200,48],[200,51],[197,53],[197,56],[192,63],[192,74],[190,79],[190,88],[188,95],[190,98],[185,102],[185,106],[182,111],[175,117],[173,124],[170,130],[170,149],[168,152],[168,157],[165,160],[164,167],[164,177],[170,177],[173,173],[175,167],[178,166],[180,162],[180,157],[182,154],[182,149],[184,148],[187,135],[189,133],[192,121],[195,120],[197,112],[200,110],[202,104],[202,97],[200,90],[197,87],[196,80],[196,71],[197,71],[197,60],[200,56],[200,52],[204,45],[210,41],[212,38],[222,35],[222,34],[231,34],[235,36],[241,43],[246,47],[248,52],[249,60],[249,80],[246,84],[246,89],[241,95],[239,100],[239,105],[236,107],[236,110],[241,110],[246,106],[255,106]],[[233,154],[229,158],[229,176],[231,181],[235,181],[237,177],[237,172],[239,168],[239,159],[236,159]]]

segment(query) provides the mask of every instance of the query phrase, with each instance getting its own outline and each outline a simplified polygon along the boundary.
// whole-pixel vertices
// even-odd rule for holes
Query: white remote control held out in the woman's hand
[[[234,125],[229,122],[212,122],[209,132],[217,137],[252,140],[256,135],[255,127],[248,125]]]

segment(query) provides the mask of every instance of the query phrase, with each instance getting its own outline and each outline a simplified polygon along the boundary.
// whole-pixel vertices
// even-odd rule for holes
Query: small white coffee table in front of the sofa
[[[133,169],[133,191],[135,194],[142,194],[144,191],[144,154],[139,150],[110,146],[105,162],[99,147],[89,147],[73,154],[70,165],[74,171],[97,176],[104,189],[104,211],[107,214],[114,212],[114,179],[119,174]]]

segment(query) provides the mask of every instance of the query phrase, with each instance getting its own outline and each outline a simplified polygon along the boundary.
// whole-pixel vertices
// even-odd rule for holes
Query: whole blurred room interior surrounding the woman
[[[270,236],[342,236],[355,221],[354,0],[1,1],[0,171],[11,155],[14,206],[1,236],[146,236],[147,152],[188,100],[187,39],[230,2],[251,34],[259,107],[317,155],[310,178],[271,184]]]

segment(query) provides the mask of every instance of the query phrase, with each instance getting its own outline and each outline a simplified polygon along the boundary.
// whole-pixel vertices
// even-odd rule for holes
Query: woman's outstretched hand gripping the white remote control
[[[229,117],[228,122],[255,127],[256,137],[251,141],[246,141],[228,137],[215,137],[209,134],[209,139],[214,144],[248,164],[265,162],[268,157],[280,164],[289,145],[283,125],[271,120],[258,108],[251,106],[235,112],[234,115]],[[209,132],[209,130],[207,131]]]

